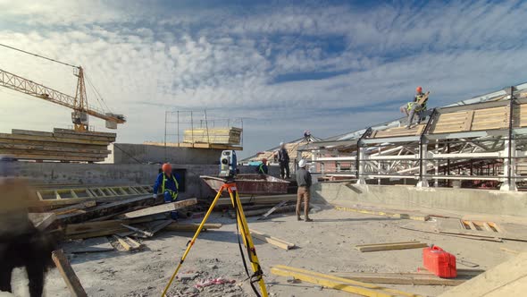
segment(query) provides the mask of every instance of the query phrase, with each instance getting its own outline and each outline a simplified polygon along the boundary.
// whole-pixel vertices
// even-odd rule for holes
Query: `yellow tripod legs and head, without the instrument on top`
[[[199,233],[201,233],[201,231],[203,230],[203,226],[205,225],[206,220],[209,218],[209,216],[213,212],[213,208],[214,206],[216,206],[216,202],[218,202],[218,199],[220,199],[220,197],[222,196],[223,191],[229,191],[230,201],[232,202],[232,206],[236,209],[237,228],[238,228],[238,231],[240,231],[241,237],[243,238],[243,243],[245,244],[247,248],[248,259],[251,262],[251,267],[253,268],[253,272],[254,272],[253,276],[249,276],[251,287],[253,288],[253,290],[255,290],[256,295],[259,295],[257,292],[257,289],[255,288],[255,285],[253,284],[257,282],[260,285],[261,296],[268,297],[267,288],[265,287],[265,283],[263,282],[262,268],[260,267],[260,262],[258,261],[258,257],[256,257],[255,243],[253,242],[253,238],[251,237],[251,233],[249,232],[249,225],[247,225],[247,219],[243,213],[243,208],[241,206],[241,202],[238,196],[238,188],[236,187],[236,182],[234,181],[226,181],[225,183],[223,183],[222,187],[216,194],[216,197],[213,200],[213,204],[211,204],[211,207],[206,212],[205,217],[203,218],[203,221],[201,222],[199,227],[197,227],[197,231],[194,234],[194,237],[192,237],[190,242],[188,242],[187,250],[185,250],[185,253],[183,253],[183,256],[180,259],[180,263],[178,264],[178,267],[176,267],[176,270],[171,276],[171,280],[164,288],[162,297],[166,296],[166,293],[168,292],[172,282],[174,281],[174,278],[178,275],[178,272],[180,271],[181,265],[183,265],[183,262],[185,261],[185,259],[187,259],[188,252],[190,251],[190,249],[196,242],[197,236],[199,235]],[[241,245],[240,245],[240,251],[242,252],[241,256],[242,256],[242,259],[244,260],[243,263],[244,263],[244,266],[246,268],[247,275],[248,275],[248,269],[247,269],[247,265],[245,262],[245,257],[243,255],[243,251],[241,249]]]

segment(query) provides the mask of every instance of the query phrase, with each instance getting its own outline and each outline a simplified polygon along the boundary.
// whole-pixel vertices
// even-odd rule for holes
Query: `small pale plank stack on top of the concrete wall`
[[[228,128],[194,128],[184,132],[183,142],[239,145],[243,130]]]

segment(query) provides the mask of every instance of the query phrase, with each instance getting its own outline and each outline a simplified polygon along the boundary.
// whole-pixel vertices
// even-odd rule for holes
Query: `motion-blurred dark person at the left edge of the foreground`
[[[42,296],[44,276],[52,265],[54,239],[29,220],[28,208],[38,201],[26,182],[13,176],[13,162],[0,157],[0,291],[13,293],[15,267],[25,267],[31,297]]]

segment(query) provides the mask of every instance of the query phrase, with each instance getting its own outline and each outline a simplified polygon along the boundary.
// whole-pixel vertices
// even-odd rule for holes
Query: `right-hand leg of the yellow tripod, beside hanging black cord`
[[[258,257],[256,256],[256,250],[255,250],[255,243],[253,242],[253,238],[251,237],[251,233],[249,231],[249,225],[247,224],[247,218],[243,212],[243,207],[241,206],[241,200],[238,196],[238,191],[231,191],[229,188],[229,194],[230,199],[232,200],[232,204],[238,208],[237,209],[237,216],[238,216],[238,228],[242,234],[243,242],[248,247],[248,253],[249,253],[249,260],[251,262],[251,267],[253,268],[253,271],[261,271],[260,267],[260,261],[258,260]],[[236,199],[236,202],[235,202]],[[263,275],[260,276],[260,279],[258,280],[258,284],[260,285],[260,292],[262,293],[263,297],[268,297],[267,288],[265,287],[265,282],[263,281]]]

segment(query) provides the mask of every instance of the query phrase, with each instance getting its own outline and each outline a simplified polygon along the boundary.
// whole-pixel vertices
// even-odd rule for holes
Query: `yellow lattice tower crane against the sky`
[[[8,47],[4,45],[1,46]],[[9,48],[19,50],[29,55],[36,55],[14,47]],[[41,55],[36,56],[54,61],[59,64],[65,64],[63,62],[46,58]],[[25,79],[19,75],[13,74],[12,72],[6,72],[3,69],[0,69],[0,86],[73,109],[73,112],[71,113],[71,122],[73,123],[74,130],[77,132],[88,131],[88,115],[105,120],[105,126],[108,129],[117,129],[118,123],[126,123],[126,118],[124,115],[116,115],[97,109],[94,106],[89,106],[88,98],[86,96],[86,84],[84,81],[83,68],[81,66],[74,66],[71,64],[66,65],[74,68],[74,75],[77,77],[77,89],[74,97],[56,89],[48,88],[37,82]]]

